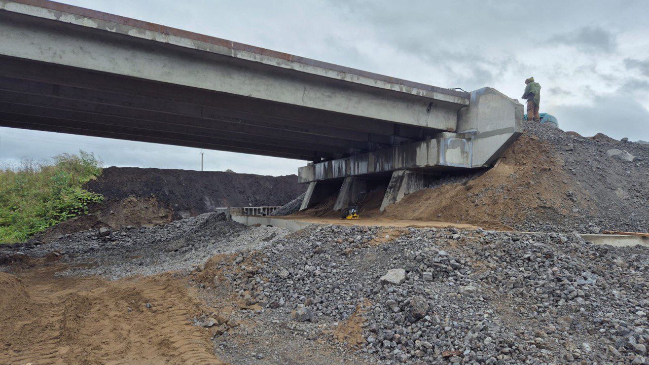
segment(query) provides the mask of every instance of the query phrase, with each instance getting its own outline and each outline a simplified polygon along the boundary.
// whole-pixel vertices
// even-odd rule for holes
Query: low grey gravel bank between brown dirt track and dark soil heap
[[[71,268],[64,275],[103,275],[119,279],[164,271],[190,271],[219,253],[263,247],[288,234],[276,227],[247,227],[218,213],[172,221],[155,227],[106,228],[66,234],[46,245],[5,248],[0,258],[61,257]],[[84,264],[74,267],[75,264]]]

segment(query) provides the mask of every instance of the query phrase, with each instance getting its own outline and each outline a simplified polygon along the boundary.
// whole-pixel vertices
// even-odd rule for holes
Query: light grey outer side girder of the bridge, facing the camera
[[[0,0],[6,10],[0,12],[1,55],[446,131],[455,131],[456,112],[468,105],[465,94],[450,90],[372,84],[349,75],[343,81],[308,64],[264,55],[243,60],[222,46],[199,50],[199,42],[182,39],[172,45],[164,34],[101,19],[67,23],[63,12],[25,5],[16,11],[15,4]]]

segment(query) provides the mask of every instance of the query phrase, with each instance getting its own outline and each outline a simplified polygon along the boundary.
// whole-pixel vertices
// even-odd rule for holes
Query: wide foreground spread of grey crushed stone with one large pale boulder
[[[371,362],[646,363],[646,247],[572,234],[326,226],[237,261],[246,275],[232,280],[247,302],[273,323],[306,326],[311,340],[333,342],[328,330],[364,306],[357,355]]]

